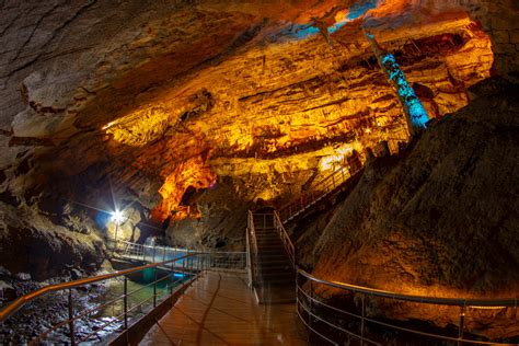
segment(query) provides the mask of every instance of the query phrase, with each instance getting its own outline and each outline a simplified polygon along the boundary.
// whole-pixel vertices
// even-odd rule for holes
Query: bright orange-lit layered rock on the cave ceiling
[[[489,76],[491,39],[459,11],[420,25],[414,25],[411,15],[402,23],[405,30],[383,28],[383,21],[395,13],[418,10],[400,0],[383,2],[365,20],[381,20],[380,44],[402,54],[410,83],[424,90],[418,97],[428,114],[441,117],[465,106],[466,88]],[[330,25],[348,15],[344,7],[332,10],[332,2],[325,1],[291,21],[310,23],[324,13]],[[348,25],[357,25],[354,22]],[[181,206],[182,197],[188,186],[207,188],[217,175],[243,181],[264,175],[270,185],[265,184],[256,196],[275,200],[284,193],[300,193],[297,187],[281,191],[279,180],[302,185],[297,181],[300,172],[334,170],[353,149],[364,155],[367,148],[388,141],[390,151],[396,152],[408,134],[395,93],[381,82],[378,66],[361,61],[364,36],[343,37],[344,33],[334,34],[347,46],[341,59],[321,39],[307,42],[308,47],[293,42],[250,47],[105,125],[103,130],[115,142],[138,152],[136,168],[155,170],[148,173],[162,180],[163,200],[153,217],[199,216],[194,206]],[[451,42],[453,36],[460,43]],[[301,49],[310,58],[301,58]],[[203,88],[215,95],[214,105],[183,116],[200,109],[189,100]]]

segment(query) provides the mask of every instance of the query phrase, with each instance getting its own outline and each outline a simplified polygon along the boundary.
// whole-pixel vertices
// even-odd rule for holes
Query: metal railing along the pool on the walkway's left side
[[[148,258],[146,255],[147,247],[153,247],[120,243],[126,249],[128,249],[126,245],[131,245],[131,251],[143,254],[145,261]],[[0,311],[0,322],[15,323],[10,320],[20,316],[24,308],[32,309],[32,313],[34,313],[37,300],[47,299],[54,304],[65,304],[67,313],[62,315],[58,313],[56,321],[47,321],[51,326],[27,341],[30,345],[39,345],[47,342],[71,345],[95,342],[106,343],[108,338],[114,337],[114,331],[127,331],[130,323],[155,309],[159,303],[169,299],[172,295],[183,290],[204,270],[245,269],[246,258],[244,252],[196,252],[189,254],[177,252],[177,254],[174,258],[159,263],[46,286],[16,299],[5,307]],[[169,258],[170,254],[166,251],[161,256]],[[150,256],[148,260],[152,258]],[[137,285],[134,282],[136,277],[150,282]],[[130,278],[132,279],[130,280]],[[109,297],[105,296],[100,303],[91,302],[90,290],[92,285],[100,282],[105,284],[107,290],[109,288],[111,295],[108,295]],[[114,289],[116,290],[115,293]],[[50,293],[54,293],[54,296],[49,297]],[[89,300],[88,303],[85,303],[86,299]],[[109,315],[109,310],[116,312]],[[85,325],[95,325],[95,327],[85,327]]]

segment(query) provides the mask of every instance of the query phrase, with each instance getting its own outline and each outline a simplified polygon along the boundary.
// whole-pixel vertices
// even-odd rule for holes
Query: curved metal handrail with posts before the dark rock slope
[[[300,285],[301,280],[299,279],[299,276],[302,276],[307,279],[307,288],[309,292],[307,292],[302,286]],[[370,344],[378,344],[373,342],[372,339],[366,337],[365,333],[365,324],[366,322],[377,324],[380,326],[393,328],[396,331],[402,331],[406,333],[412,333],[415,335],[419,336],[425,336],[425,337],[431,337],[436,339],[441,339],[441,341],[450,341],[450,342],[457,342],[459,345],[462,343],[471,343],[471,344],[477,344],[477,345],[500,345],[497,343],[491,343],[491,342],[482,342],[482,341],[473,341],[473,339],[466,339],[464,338],[464,318],[465,318],[465,309],[466,308],[484,308],[484,307],[495,307],[498,309],[506,309],[506,308],[516,308],[517,309],[517,303],[518,303],[518,298],[509,298],[509,299],[493,299],[493,300],[485,300],[485,299],[463,299],[463,298],[440,298],[440,297],[427,297],[427,296],[414,296],[414,295],[403,295],[403,293],[397,293],[397,292],[392,292],[392,291],[387,291],[387,290],[380,290],[380,289],[372,289],[372,288],[367,288],[367,287],[361,287],[361,286],[356,286],[356,285],[349,285],[349,284],[344,284],[344,282],[338,282],[338,281],[327,281],[323,280],[320,278],[316,278],[315,276],[304,272],[301,268],[297,268],[297,277],[296,277],[296,282],[297,282],[297,313],[300,318],[300,320],[309,327],[310,331],[322,337],[322,339],[328,342],[330,344],[333,345],[338,345],[338,343],[334,339],[331,338],[330,335],[326,337],[323,335],[322,331],[319,331],[315,326],[312,325],[312,321],[320,321],[323,322],[327,325],[327,327],[332,327],[337,332],[344,333],[348,336],[355,337],[358,341],[360,341],[360,344],[362,345],[364,343],[370,343]],[[314,296],[316,295],[314,291],[314,286],[316,284],[324,285],[327,287],[333,287],[342,290],[346,290],[353,293],[359,293],[361,296],[361,314],[358,313],[353,313],[348,312],[342,309],[338,309],[336,307],[332,307],[330,304],[326,304],[325,302],[321,301],[320,299],[316,299]],[[445,335],[439,335],[439,334],[432,334],[432,333],[426,333],[422,331],[416,331],[407,327],[403,327],[400,325],[393,325],[391,323],[387,322],[381,322],[377,321],[374,319],[368,318],[366,315],[366,297],[380,297],[380,298],[390,298],[392,300],[399,300],[399,301],[406,301],[406,302],[414,302],[414,303],[423,303],[423,304],[436,304],[436,305],[450,305],[450,307],[459,307],[460,308],[460,315],[459,315],[459,324],[458,324],[458,337],[452,337],[452,336],[445,336]],[[304,297],[304,300],[308,303],[304,303],[304,301],[300,298]],[[315,307],[318,309],[315,309]],[[337,322],[330,321],[330,319],[325,319],[322,316],[319,316],[319,307],[324,307],[326,309],[332,309],[336,312],[343,313],[345,315],[349,315],[353,318],[357,318],[360,320],[360,333],[355,333],[353,331],[347,331],[344,328],[344,326],[339,325]],[[301,311],[307,313],[308,316],[308,322],[301,314]],[[506,345],[506,344],[503,344]]]

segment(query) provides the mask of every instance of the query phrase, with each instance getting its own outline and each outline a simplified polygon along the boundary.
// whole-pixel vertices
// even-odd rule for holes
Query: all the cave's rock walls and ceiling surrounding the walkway
[[[295,267],[516,299],[462,322],[519,343],[517,0],[4,0],[0,19],[0,308],[120,269],[117,242],[249,253],[253,214],[276,210]],[[30,341],[64,297],[2,321],[0,344]]]

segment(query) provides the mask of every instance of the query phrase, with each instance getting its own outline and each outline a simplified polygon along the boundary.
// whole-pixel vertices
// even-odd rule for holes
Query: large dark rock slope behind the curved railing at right
[[[369,161],[356,188],[300,238],[318,240],[300,254],[313,274],[412,295],[517,297],[518,94],[500,78],[482,82],[468,107],[430,124],[399,155]],[[381,305],[371,308],[377,314]],[[384,314],[434,320],[437,312],[389,304]],[[485,328],[488,316],[480,318],[471,328]],[[519,323],[508,323],[486,333],[519,334]]]

